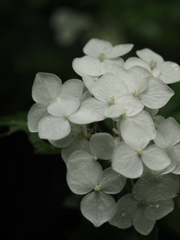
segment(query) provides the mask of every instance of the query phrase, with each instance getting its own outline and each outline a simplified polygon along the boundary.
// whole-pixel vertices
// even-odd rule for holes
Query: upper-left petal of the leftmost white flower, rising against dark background
[[[32,97],[38,103],[48,104],[59,96],[62,89],[61,79],[51,73],[37,73],[32,87]]]

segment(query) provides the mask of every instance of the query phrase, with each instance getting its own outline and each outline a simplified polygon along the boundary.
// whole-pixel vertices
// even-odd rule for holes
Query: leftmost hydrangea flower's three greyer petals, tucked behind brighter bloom
[[[48,115],[47,107],[62,95],[80,98],[84,84],[81,80],[71,79],[62,85],[61,79],[51,73],[37,73],[32,87],[32,98],[36,102],[28,113],[28,128],[38,132],[40,119]]]

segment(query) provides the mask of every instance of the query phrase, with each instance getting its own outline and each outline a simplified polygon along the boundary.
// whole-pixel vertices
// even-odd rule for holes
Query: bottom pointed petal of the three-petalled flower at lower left
[[[115,200],[101,191],[86,195],[81,201],[81,212],[95,227],[109,221]]]

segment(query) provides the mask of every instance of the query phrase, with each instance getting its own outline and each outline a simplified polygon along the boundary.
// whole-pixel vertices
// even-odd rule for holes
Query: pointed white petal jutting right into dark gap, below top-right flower
[[[174,95],[174,91],[157,78],[149,78],[146,90],[141,94],[142,103],[149,108],[161,108]]]

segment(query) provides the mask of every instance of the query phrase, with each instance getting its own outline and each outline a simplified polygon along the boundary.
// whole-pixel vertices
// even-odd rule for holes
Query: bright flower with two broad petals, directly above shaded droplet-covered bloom
[[[138,178],[143,174],[143,164],[151,170],[160,171],[171,163],[168,155],[155,144],[146,146],[136,141],[132,146],[120,142],[114,148],[112,168],[127,178]]]

